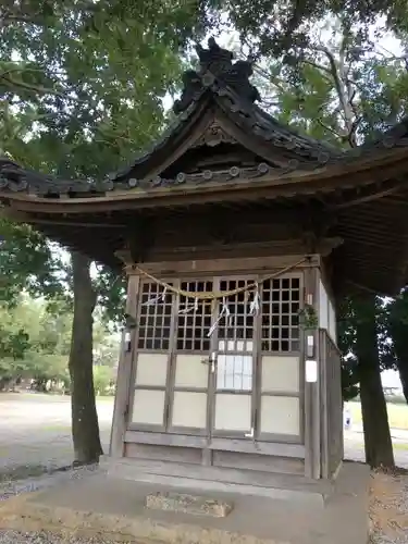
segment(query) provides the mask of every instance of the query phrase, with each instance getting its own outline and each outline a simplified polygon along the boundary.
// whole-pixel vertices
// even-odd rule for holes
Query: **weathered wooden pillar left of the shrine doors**
[[[137,299],[140,279],[137,275],[129,275],[127,281],[126,313],[136,319]],[[119,358],[116,394],[114,398],[114,410],[111,431],[110,457],[120,458],[124,456],[124,436],[128,423],[129,394],[132,367],[135,354],[137,329],[125,329],[122,335],[121,353]],[[131,346],[126,346],[125,336],[129,336]]]

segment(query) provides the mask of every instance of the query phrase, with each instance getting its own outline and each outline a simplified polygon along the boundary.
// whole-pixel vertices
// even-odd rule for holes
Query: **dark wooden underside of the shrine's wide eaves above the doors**
[[[407,277],[408,195],[381,199],[354,195],[322,202],[316,196],[275,201],[223,202],[169,209],[92,213],[18,211],[7,215],[34,224],[63,246],[121,270],[115,251],[133,245],[138,261],[214,259],[285,251],[312,252],[310,238],[342,238],[332,259],[337,281],[393,295]],[[313,234],[314,231],[314,234]]]

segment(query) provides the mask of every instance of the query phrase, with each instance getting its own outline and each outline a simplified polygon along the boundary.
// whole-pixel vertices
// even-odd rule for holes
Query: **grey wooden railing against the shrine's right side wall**
[[[343,460],[342,355],[325,329],[319,330],[322,477],[331,478]]]

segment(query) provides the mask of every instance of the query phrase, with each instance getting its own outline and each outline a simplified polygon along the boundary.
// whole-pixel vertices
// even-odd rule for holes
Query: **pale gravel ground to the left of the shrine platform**
[[[98,403],[101,442],[108,448],[113,400]],[[95,468],[55,471],[73,461],[67,397],[0,395],[0,502],[66,480],[89,478]],[[109,544],[103,539],[18,533],[0,529],[0,544]],[[135,543],[133,543],[135,544]]]

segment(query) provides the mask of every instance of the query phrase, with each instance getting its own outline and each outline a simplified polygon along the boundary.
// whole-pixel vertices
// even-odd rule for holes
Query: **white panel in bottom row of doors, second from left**
[[[173,400],[174,426],[207,426],[207,393],[176,391]]]

